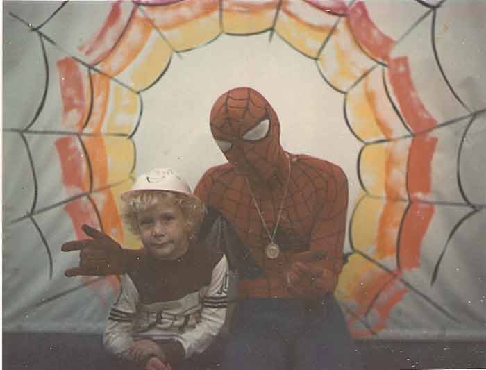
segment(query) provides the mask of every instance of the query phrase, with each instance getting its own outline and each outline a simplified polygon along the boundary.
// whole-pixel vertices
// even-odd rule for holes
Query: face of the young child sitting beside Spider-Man
[[[140,239],[156,260],[175,260],[187,252],[189,233],[178,205],[157,201],[137,214]]]

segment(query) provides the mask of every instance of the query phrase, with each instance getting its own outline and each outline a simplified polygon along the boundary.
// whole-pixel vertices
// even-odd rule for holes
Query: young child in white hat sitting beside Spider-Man
[[[121,279],[103,344],[135,369],[187,369],[224,324],[226,257],[197,238],[204,205],[172,169],[142,174],[121,199],[146,252]]]

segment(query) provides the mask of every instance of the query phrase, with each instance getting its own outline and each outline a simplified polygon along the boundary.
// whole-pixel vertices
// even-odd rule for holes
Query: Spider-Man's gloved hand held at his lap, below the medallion
[[[337,276],[332,269],[323,266],[322,260],[325,256],[325,251],[308,251],[295,255],[287,271],[287,289],[292,296],[317,299],[334,291]]]

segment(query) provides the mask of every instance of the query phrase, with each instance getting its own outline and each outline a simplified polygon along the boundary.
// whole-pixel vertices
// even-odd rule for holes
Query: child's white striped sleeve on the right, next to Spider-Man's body
[[[223,327],[228,305],[228,261],[224,255],[212,269],[211,282],[202,303],[201,321],[181,335],[186,358],[206,350]]]

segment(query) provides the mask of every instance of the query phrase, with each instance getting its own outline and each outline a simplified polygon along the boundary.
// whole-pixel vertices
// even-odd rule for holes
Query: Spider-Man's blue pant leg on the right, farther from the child
[[[324,310],[308,312],[305,330],[294,344],[292,370],[360,370],[357,348],[335,298]]]

